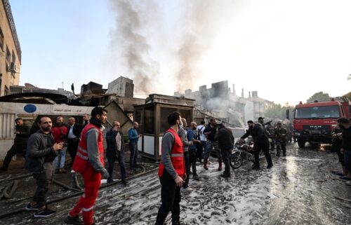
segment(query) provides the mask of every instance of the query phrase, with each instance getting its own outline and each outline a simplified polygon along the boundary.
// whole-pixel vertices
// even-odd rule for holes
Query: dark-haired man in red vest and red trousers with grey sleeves
[[[81,132],[77,155],[72,169],[81,173],[84,178],[85,191],[76,206],[65,219],[66,224],[82,224],[79,213],[83,211],[84,225],[93,224],[93,207],[101,185],[101,176],[108,179],[109,173],[104,165],[104,146],[102,144],[103,123],[107,111],[95,107],[91,111],[91,120]]]

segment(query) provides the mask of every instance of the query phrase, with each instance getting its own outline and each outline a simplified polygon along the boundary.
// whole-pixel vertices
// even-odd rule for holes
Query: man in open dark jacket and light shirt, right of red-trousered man
[[[123,132],[120,130],[119,121],[113,122],[113,127],[106,134],[106,157],[108,161],[108,172],[110,174],[109,179],[107,179],[107,183],[113,182],[112,172],[114,168],[114,161],[118,160],[119,166],[121,168],[121,178],[122,183],[127,184],[126,180],[126,166],[124,165],[124,137]]]

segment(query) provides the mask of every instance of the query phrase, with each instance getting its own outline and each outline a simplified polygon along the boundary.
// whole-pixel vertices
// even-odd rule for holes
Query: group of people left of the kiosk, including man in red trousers
[[[93,224],[93,205],[98,196],[101,178],[112,179],[114,162],[118,161],[121,170],[121,182],[127,184],[126,167],[124,162],[125,141],[119,121],[114,121],[112,128],[106,133],[107,149],[104,153],[102,144],[103,124],[106,122],[107,111],[102,107],[95,107],[91,115],[84,114],[84,124],[76,123],[76,118],[69,117],[68,124],[64,117],[58,116],[55,123],[48,116],[40,116],[34,121],[32,128],[25,125],[22,118],[15,119],[14,144],[8,150],[1,171],[8,170],[11,159],[16,154],[25,155],[25,169],[32,172],[36,179],[37,190],[32,201],[27,204],[26,210],[34,211],[34,217],[49,217],[55,210],[48,209],[46,196],[55,173],[67,173],[65,168],[72,166],[72,185],[77,185],[77,172],[84,179],[84,196],[69,212],[65,219],[67,224]],[[129,165],[131,170],[138,167],[138,123],[128,130],[128,139],[131,151]],[[67,163],[66,151],[71,158]],[[107,169],[105,160],[107,158]],[[68,161],[69,162],[69,161]],[[77,187],[77,186],[74,186]],[[83,214],[83,221],[79,213]]]

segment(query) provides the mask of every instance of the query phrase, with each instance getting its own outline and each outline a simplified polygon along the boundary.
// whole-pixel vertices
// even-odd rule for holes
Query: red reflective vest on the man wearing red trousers
[[[86,166],[88,165],[88,147],[86,146],[86,132],[90,129],[98,129],[99,135],[98,135],[98,148],[99,148],[99,154],[100,154],[100,162],[102,165],[105,165],[104,162],[104,146],[102,143],[102,132],[101,130],[96,127],[95,125],[88,123],[81,132],[81,140],[78,145],[77,149],[77,155],[74,158],[74,163],[72,165],[72,169],[76,172],[83,172],[86,169]]]

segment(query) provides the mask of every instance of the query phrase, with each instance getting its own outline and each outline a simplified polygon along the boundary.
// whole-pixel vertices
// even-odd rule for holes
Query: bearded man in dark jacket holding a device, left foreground
[[[53,161],[62,149],[63,143],[55,143],[51,135],[53,126],[51,118],[42,117],[39,121],[40,130],[28,139],[25,168],[37,179],[37,191],[26,210],[36,210],[34,217],[48,217],[55,213],[46,206],[46,193],[55,172]]]

